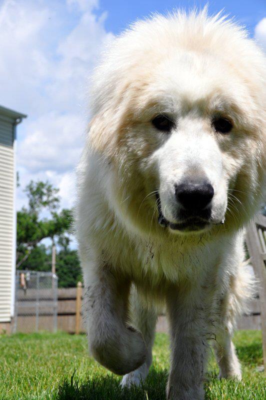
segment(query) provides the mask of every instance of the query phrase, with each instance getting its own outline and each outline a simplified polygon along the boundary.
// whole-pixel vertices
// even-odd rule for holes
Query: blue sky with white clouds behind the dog
[[[210,0],[247,26],[266,50],[266,0]],[[48,179],[74,201],[74,167],[89,118],[89,75],[106,42],[137,18],[205,1],[0,0],[0,104],[26,113],[17,129],[22,188]]]

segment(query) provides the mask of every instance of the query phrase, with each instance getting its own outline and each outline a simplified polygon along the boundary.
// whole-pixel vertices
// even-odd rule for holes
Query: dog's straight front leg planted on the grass
[[[171,334],[167,399],[203,400],[207,318],[191,292],[169,292],[166,302]]]

